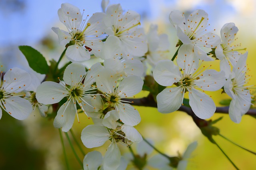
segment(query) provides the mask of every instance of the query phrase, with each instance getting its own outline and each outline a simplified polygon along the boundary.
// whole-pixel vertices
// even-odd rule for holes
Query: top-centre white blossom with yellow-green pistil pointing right
[[[141,57],[148,51],[144,33],[138,29],[140,14],[130,10],[123,14],[120,4],[112,4],[108,6],[103,21],[106,34],[118,37],[114,44],[106,44],[107,49],[114,50],[114,45],[120,43],[123,57]]]

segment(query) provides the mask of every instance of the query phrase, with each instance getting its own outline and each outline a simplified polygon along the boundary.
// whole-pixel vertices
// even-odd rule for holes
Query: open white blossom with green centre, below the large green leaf
[[[92,90],[95,87],[91,86],[97,75],[98,70],[102,69],[100,63],[94,64],[86,73],[84,66],[80,63],[72,63],[67,66],[64,71],[64,83],[42,82],[36,90],[36,99],[42,104],[55,104],[60,102],[64,97],[68,98],[57,112],[54,119],[54,127],[61,128],[62,131],[70,130],[74,123],[75,115],[78,117],[76,104],[80,106],[82,111],[84,106],[88,104],[84,98],[92,96]],[[79,121],[79,119],[78,119]]]

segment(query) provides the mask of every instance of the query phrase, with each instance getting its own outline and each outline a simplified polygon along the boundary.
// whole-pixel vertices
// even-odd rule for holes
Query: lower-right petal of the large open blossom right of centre
[[[189,105],[200,119],[208,119],[212,117],[216,110],[212,98],[193,88],[189,92]]]

